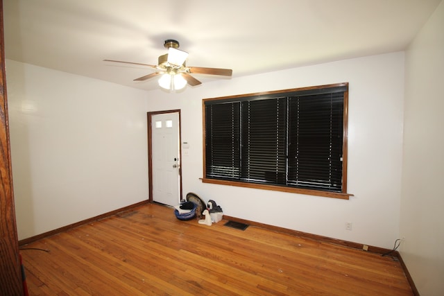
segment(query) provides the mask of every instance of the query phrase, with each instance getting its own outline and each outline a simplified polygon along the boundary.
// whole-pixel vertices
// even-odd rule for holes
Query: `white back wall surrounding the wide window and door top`
[[[234,70],[235,73],[235,70]],[[350,200],[203,184],[202,99],[350,82]],[[180,94],[149,92],[148,111],[182,110],[183,192],[215,200],[224,214],[311,234],[392,248],[399,237],[404,53],[216,80]],[[345,222],[352,222],[352,231]]]

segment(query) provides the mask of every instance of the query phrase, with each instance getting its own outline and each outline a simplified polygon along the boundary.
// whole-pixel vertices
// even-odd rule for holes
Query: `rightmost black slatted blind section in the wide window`
[[[289,98],[289,186],[341,192],[343,93]]]

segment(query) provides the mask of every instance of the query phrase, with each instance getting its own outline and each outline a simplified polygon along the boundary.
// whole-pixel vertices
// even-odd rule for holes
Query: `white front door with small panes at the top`
[[[153,201],[175,206],[180,202],[179,114],[151,117]]]

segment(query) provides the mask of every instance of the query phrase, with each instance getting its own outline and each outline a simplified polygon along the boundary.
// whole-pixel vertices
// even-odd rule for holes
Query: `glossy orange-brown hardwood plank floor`
[[[30,295],[413,295],[390,256],[147,204],[21,250]]]

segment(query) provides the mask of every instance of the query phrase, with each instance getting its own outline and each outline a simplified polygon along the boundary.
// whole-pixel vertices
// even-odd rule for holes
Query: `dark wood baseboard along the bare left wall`
[[[123,207],[123,208],[120,208],[120,209],[116,209],[114,211],[109,211],[108,213],[101,214],[99,216],[95,216],[95,217],[92,217],[92,218],[88,218],[88,219],[85,219],[85,220],[82,220],[80,222],[73,223],[73,224],[70,224],[70,225],[67,225],[67,226],[64,226],[64,227],[60,227],[58,229],[54,229],[54,230],[51,230],[49,232],[44,232],[42,234],[37,234],[36,236],[31,236],[29,238],[24,238],[24,239],[19,241],[19,247],[22,246],[22,245],[27,245],[28,243],[33,243],[35,241],[39,241],[42,238],[47,238],[47,237],[53,236],[55,234],[60,234],[60,232],[66,232],[69,229],[73,229],[73,228],[79,227],[81,225],[85,225],[85,224],[88,224],[88,223],[95,222],[97,220],[101,220],[103,218],[108,218],[110,216],[114,216],[114,215],[120,214],[120,213],[122,213],[124,211],[130,211],[130,210],[134,209],[135,207],[139,207],[141,205],[147,204],[148,202],[149,202],[148,200],[144,200],[142,202],[137,202],[136,204],[130,204],[128,207]]]

